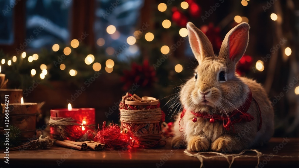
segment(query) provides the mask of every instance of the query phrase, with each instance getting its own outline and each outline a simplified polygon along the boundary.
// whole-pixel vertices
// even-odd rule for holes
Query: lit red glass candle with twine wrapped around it
[[[78,140],[88,131],[93,130],[95,110],[93,108],[51,109],[50,132],[57,139]],[[63,120],[65,119],[65,120]],[[63,129],[63,130],[62,130]]]

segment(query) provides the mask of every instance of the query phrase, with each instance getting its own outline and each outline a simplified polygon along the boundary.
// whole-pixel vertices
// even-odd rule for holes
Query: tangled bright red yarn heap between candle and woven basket
[[[110,123],[106,127],[106,122],[104,122],[102,129],[99,129],[94,137],[94,141],[106,144],[109,148],[121,149],[129,145],[130,135],[121,133],[117,124]]]

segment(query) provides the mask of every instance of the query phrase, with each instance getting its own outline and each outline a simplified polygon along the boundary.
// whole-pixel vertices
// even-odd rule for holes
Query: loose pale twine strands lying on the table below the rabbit
[[[245,152],[256,152],[257,155],[243,155]],[[203,166],[203,159],[213,159],[213,158],[219,158],[219,156],[224,157],[228,164],[229,167],[231,168],[231,165],[233,164],[234,160],[236,158],[257,158],[257,167],[260,163],[260,157],[262,156],[276,156],[276,157],[280,157],[280,158],[292,158],[293,156],[280,156],[280,155],[268,155],[268,154],[263,154],[262,152],[259,152],[257,149],[245,149],[242,150],[242,152],[237,153],[237,154],[228,154],[228,153],[219,153],[219,152],[198,152],[196,154],[192,154],[190,152],[188,152],[187,150],[184,151],[184,153],[190,157],[196,157],[198,158],[198,160],[200,161],[200,168],[202,168]],[[205,154],[215,154],[218,156],[205,156]],[[231,161],[229,160],[229,157],[231,157]]]

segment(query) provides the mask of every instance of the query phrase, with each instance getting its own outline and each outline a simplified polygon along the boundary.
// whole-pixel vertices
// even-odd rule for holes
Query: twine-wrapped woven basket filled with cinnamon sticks
[[[120,130],[133,135],[139,147],[164,146],[161,123],[165,114],[160,109],[159,100],[153,97],[138,97],[127,93],[119,105]]]

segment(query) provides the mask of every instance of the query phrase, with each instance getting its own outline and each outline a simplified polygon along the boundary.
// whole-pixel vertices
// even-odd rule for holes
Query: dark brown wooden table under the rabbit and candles
[[[267,146],[259,149],[263,154],[294,156],[293,158],[260,158],[264,167],[299,167],[299,138],[272,138]],[[282,143],[285,143],[283,145]],[[280,144],[281,143],[281,144]],[[278,147],[280,150],[275,149]],[[0,151],[0,165],[4,163],[4,151]],[[184,149],[173,149],[169,143],[157,149],[77,151],[57,146],[45,150],[10,151],[9,166],[22,167],[199,167],[200,161],[185,155]],[[277,152],[277,153],[276,153]],[[196,152],[193,152],[196,153]],[[247,152],[246,155],[255,155]],[[207,154],[206,156],[212,156]],[[163,159],[165,161],[163,161]],[[228,167],[225,158],[219,157],[203,161],[204,167]],[[34,166],[33,166],[34,165]],[[257,158],[236,158],[232,167],[255,167]],[[263,166],[263,165],[261,165]]]

